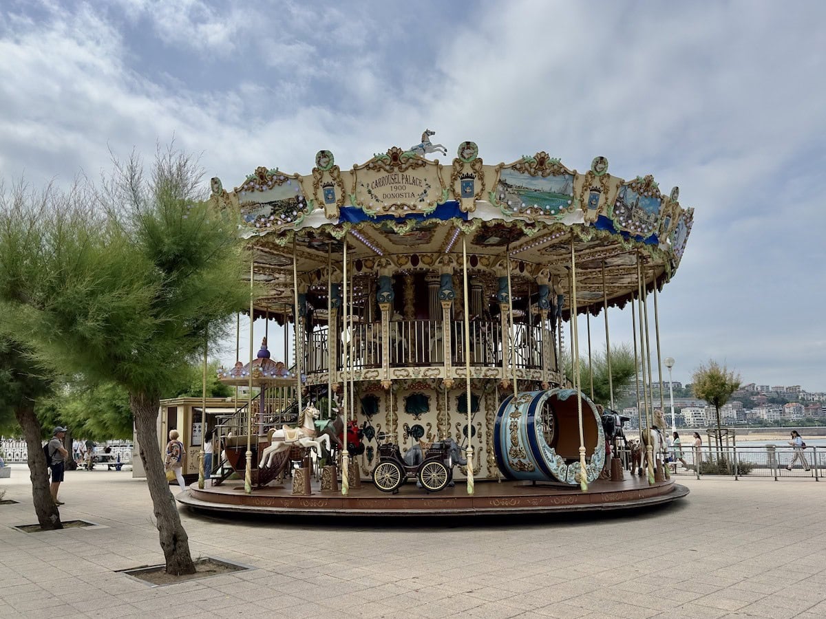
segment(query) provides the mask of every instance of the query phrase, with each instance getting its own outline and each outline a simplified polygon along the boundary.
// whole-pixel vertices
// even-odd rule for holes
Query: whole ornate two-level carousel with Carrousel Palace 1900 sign
[[[258,168],[233,191],[212,179],[210,200],[240,212],[251,249],[250,325],[282,329],[284,348],[265,340],[254,354],[250,341],[219,371],[245,395],[211,428],[213,470],[179,501],[551,513],[688,493],[668,477],[654,385],[662,394],[657,295],[693,209],[652,176],[612,176],[605,157],[586,172],[545,152],[491,165],[463,142],[440,163],[433,135],[349,170],[321,150],[309,174]],[[610,365],[608,314],[626,305],[643,446],[633,471],[613,390],[598,405],[580,384],[591,318],[603,314]]]

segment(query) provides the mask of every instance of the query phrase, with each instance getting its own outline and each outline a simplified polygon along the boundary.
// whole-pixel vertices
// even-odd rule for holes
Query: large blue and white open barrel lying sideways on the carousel
[[[600,475],[605,464],[605,432],[596,405],[584,394],[582,433],[586,479]],[[578,484],[579,413],[577,391],[550,389],[510,395],[496,413],[493,452],[502,474],[510,480],[558,481]]]

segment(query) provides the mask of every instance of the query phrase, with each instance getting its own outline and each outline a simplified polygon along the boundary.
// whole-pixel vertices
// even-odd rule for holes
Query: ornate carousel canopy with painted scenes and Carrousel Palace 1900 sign
[[[267,290],[256,314],[292,314],[293,256],[300,291],[325,296],[328,271],[341,281],[345,241],[357,303],[379,274],[461,272],[463,240],[471,281],[487,295],[510,268],[514,297],[545,282],[567,311],[572,268],[577,307],[593,313],[604,295],[609,305],[636,295],[638,272],[650,290],[676,271],[694,214],[677,187],[663,195],[650,175],[612,176],[604,157],[586,172],[545,152],[487,165],[472,142],[444,165],[424,156],[430,135],[350,170],[321,150],[306,175],[258,168],[231,192],[212,179],[211,200],[240,210],[253,244]]]

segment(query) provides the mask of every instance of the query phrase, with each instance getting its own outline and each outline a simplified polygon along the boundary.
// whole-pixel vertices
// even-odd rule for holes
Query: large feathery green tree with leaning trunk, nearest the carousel
[[[101,187],[74,196],[69,212],[82,216],[58,210],[38,224],[47,240],[26,251],[39,254],[41,274],[20,281],[9,308],[14,333],[40,364],[128,392],[169,574],[195,566],[164,474],[160,398],[249,303],[237,218],[198,200],[201,177],[171,148],[159,150],[149,177],[134,154],[116,161]]]

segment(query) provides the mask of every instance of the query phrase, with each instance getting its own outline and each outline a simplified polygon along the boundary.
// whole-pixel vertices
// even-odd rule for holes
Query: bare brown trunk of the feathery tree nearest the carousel
[[[157,422],[160,399],[146,394],[130,394],[129,406],[135,415],[135,431],[140,443],[140,461],[146,471],[146,484],[157,518],[160,547],[164,550],[167,574],[195,574],[189,552],[189,537],[181,524],[175,499],[164,471],[164,459],[158,444]]]

